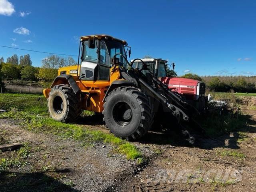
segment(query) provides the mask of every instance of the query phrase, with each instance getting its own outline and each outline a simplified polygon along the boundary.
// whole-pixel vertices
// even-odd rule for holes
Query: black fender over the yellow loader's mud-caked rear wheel
[[[81,91],[72,75],[62,74],[56,77],[51,85],[51,88],[58,84],[69,84],[75,94]]]

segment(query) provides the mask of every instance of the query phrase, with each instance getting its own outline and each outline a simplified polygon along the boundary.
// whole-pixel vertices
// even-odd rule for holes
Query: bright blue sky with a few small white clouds
[[[78,54],[78,37],[109,34],[178,75],[256,75],[255,0],[0,0],[0,45]],[[0,57],[48,54],[0,47]],[[77,60],[77,58],[75,57]]]

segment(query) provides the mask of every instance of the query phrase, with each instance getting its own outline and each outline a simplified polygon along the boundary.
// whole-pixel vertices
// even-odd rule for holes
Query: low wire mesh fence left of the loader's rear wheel
[[[0,94],[0,106],[35,106],[46,105],[47,98],[26,94]]]

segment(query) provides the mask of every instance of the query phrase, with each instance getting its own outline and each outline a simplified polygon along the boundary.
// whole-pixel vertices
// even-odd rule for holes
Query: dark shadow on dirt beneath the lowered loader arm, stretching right
[[[198,132],[193,132],[190,130],[190,133],[196,138],[195,144],[190,144],[182,134],[179,133],[177,126],[172,126],[170,122],[171,129],[154,129],[154,131],[148,132],[143,138],[140,139],[139,143],[143,144],[158,144],[158,145],[173,145],[173,146],[186,146],[186,147],[198,147],[202,149],[213,149],[218,147],[238,149],[238,140],[244,139],[246,133],[256,133],[256,121],[252,119],[250,115],[243,115],[242,118],[246,118],[247,121],[244,122],[244,126],[239,129],[232,130],[224,134],[219,134],[216,131],[215,136],[209,136],[206,134],[201,134]],[[245,133],[241,135],[240,132]]]

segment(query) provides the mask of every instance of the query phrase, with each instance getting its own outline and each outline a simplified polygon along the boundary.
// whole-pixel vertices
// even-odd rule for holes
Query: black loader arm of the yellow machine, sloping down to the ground
[[[120,56],[124,57],[122,54],[120,54]],[[124,59],[126,58],[124,57]],[[188,104],[182,96],[170,91],[170,89],[165,84],[160,82],[152,74],[152,72],[149,71],[149,76],[146,77],[141,70],[132,68],[132,64],[130,64],[128,60],[126,60],[126,62],[130,66],[130,70],[126,71],[122,68],[122,66],[120,66],[122,70],[122,77],[133,84],[136,84],[136,86],[144,90],[144,92],[146,92],[148,95],[158,100],[158,102],[160,102],[164,108],[166,108],[174,117],[176,117],[180,124],[182,133],[187,137],[187,140],[193,144],[195,142],[195,138],[188,132],[188,130],[186,130],[186,128],[182,125],[182,122],[188,122],[188,120],[191,120],[191,122],[198,125],[192,118],[190,118],[190,116],[192,116],[192,114],[195,112],[199,112],[190,106],[190,104]],[[144,64],[144,67],[146,67],[146,64]],[[147,82],[148,78],[150,78],[150,81],[156,84],[156,87]],[[200,127],[200,125],[198,126]],[[201,127],[199,129],[202,130]]]

